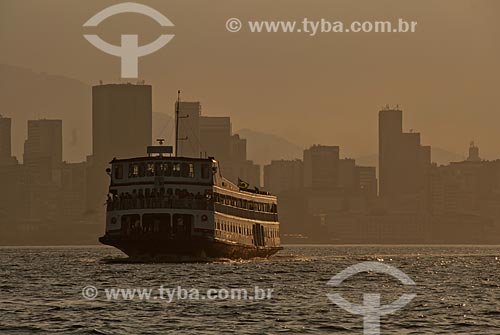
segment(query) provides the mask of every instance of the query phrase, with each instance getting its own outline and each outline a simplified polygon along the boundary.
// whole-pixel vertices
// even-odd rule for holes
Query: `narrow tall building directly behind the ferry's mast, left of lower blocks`
[[[179,148],[177,155],[183,157],[200,157],[201,104],[198,101],[181,101],[177,103],[179,104]]]

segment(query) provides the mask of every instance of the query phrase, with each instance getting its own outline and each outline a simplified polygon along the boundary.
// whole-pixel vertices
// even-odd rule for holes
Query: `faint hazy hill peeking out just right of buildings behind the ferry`
[[[250,129],[240,129],[236,134],[247,139],[247,156],[257,164],[269,164],[276,159],[302,159],[303,148],[286,139]]]

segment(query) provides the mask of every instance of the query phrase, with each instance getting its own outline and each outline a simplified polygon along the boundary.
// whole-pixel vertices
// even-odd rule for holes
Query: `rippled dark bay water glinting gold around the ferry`
[[[120,261],[107,247],[0,248],[1,334],[362,334],[362,317],[326,297],[390,303],[382,334],[500,334],[500,247],[285,246],[269,260],[187,264]],[[361,273],[339,288],[327,281],[362,261],[396,266],[417,286]],[[97,287],[85,300],[82,288]],[[105,288],[272,288],[266,300],[108,301]]]

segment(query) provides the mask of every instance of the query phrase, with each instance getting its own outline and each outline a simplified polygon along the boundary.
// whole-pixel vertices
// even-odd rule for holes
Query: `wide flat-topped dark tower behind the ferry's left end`
[[[152,140],[151,85],[108,84],[92,87],[92,155],[109,162],[113,157],[146,155]]]

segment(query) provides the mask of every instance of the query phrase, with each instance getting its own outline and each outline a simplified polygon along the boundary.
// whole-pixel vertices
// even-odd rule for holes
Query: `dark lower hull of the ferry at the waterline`
[[[210,259],[267,258],[282,247],[243,245],[206,237],[166,238],[143,236],[124,238],[105,235],[99,238],[105,245],[120,249],[133,259],[165,261],[205,261]]]

